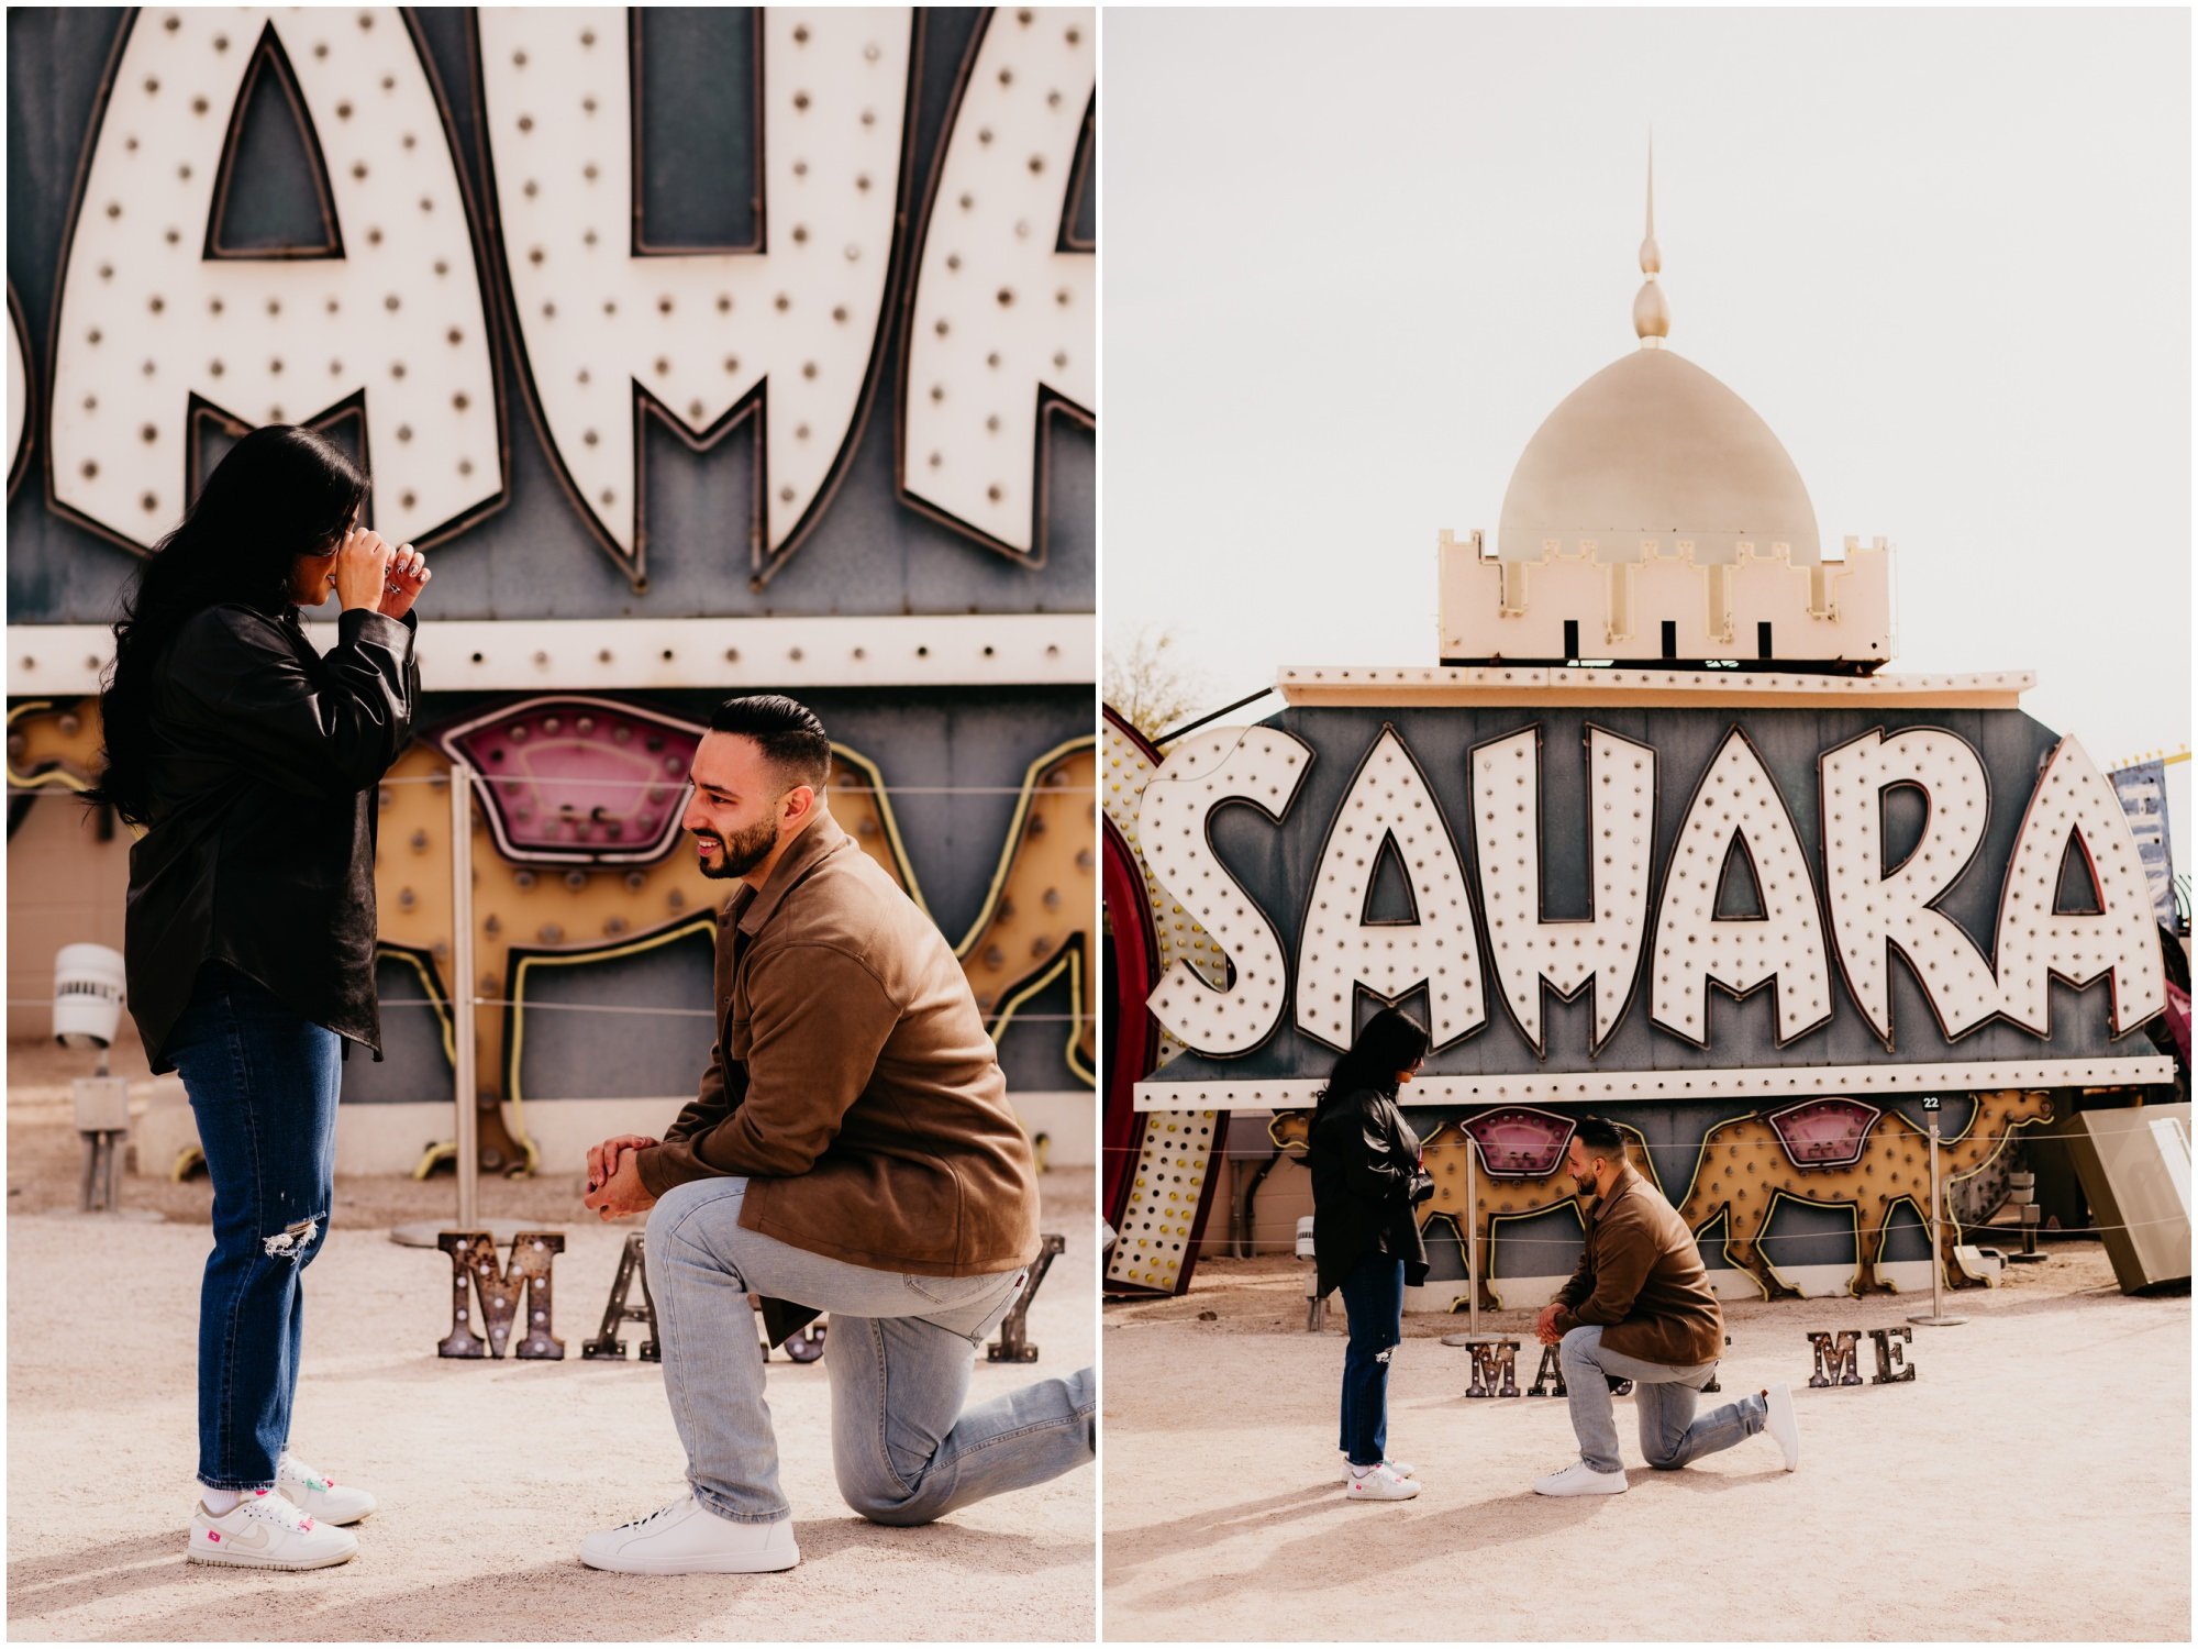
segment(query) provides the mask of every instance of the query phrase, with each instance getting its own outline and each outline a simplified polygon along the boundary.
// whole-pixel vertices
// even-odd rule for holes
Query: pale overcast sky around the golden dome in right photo
[[[1433,664],[1435,532],[1492,536],[1541,420],[1635,347],[1653,125],[1670,347],[1827,545],[1892,543],[1892,668],[2033,668],[2101,763],[2189,741],[2189,29],[1108,9],[1110,651],[1174,624],[1213,708]]]

